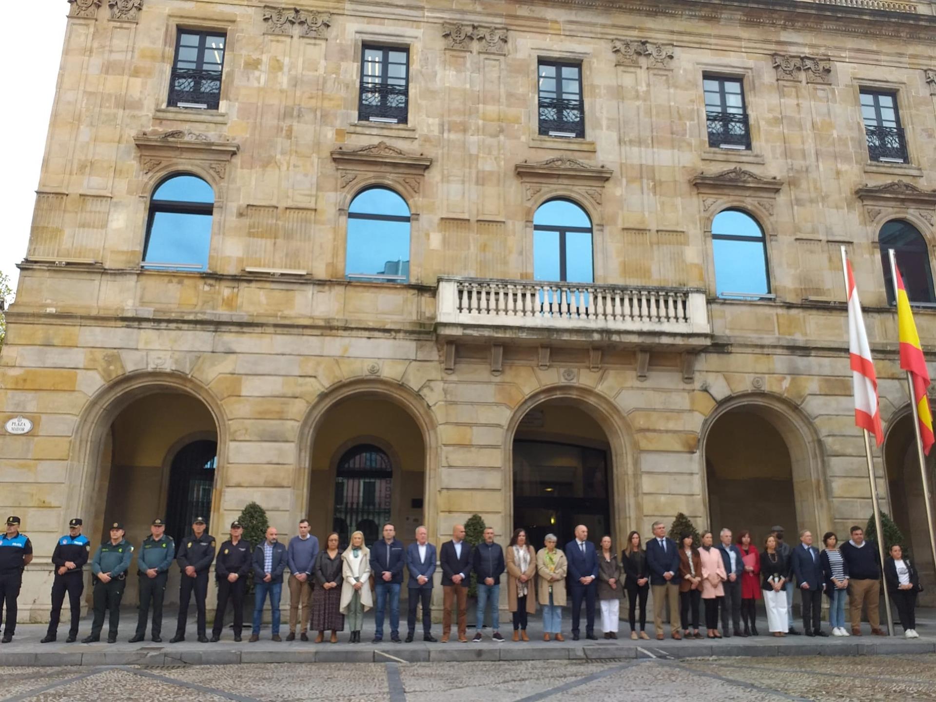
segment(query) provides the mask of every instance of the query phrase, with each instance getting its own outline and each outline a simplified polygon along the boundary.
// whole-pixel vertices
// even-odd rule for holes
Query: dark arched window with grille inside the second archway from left
[[[359,444],[344,452],[335,475],[335,516],[332,529],[344,546],[351,533],[364,533],[372,544],[390,519],[393,466],[388,455],[372,444]]]

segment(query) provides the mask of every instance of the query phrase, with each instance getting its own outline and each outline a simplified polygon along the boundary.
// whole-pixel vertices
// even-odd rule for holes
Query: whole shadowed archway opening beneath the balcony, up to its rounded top
[[[607,435],[574,403],[542,402],[520,420],[513,444],[514,528],[535,548],[552,533],[562,546],[577,524],[597,542],[612,532]]]

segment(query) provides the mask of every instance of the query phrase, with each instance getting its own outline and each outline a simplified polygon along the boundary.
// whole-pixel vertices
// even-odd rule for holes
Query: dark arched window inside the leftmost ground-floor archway
[[[183,446],[172,459],[166,501],[166,534],[177,544],[192,531],[192,521],[196,517],[211,519],[217,453],[215,442],[200,440]]]

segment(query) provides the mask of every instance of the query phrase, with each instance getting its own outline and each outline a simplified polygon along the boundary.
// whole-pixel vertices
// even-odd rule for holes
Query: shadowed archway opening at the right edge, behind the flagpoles
[[[923,496],[923,479],[920,476],[919,459],[916,455],[914,419],[906,414],[894,422],[887,431],[884,445],[885,475],[890,498],[889,514],[899,527],[910,549],[911,558],[924,582],[933,582],[932,552],[929,548],[927,508]],[[929,488],[936,482],[936,452],[930,452],[926,461],[929,471]],[[927,588],[920,595],[921,604],[932,606],[936,593]]]

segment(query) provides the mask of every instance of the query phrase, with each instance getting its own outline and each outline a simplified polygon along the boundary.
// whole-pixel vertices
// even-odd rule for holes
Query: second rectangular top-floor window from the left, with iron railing
[[[358,120],[406,124],[408,110],[409,50],[365,45]]]

